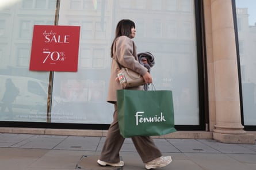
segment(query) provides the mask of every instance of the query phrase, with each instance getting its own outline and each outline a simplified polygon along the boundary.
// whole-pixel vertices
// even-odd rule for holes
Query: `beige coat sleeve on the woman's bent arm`
[[[131,38],[128,38],[127,36],[117,38],[115,48],[116,50],[114,55],[123,67],[130,68],[133,71],[138,72],[140,75],[146,74],[148,70],[139,63],[136,54],[136,47]]]

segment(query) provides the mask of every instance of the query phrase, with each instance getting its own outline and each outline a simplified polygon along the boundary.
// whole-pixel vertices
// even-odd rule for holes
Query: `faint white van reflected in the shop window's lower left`
[[[1,89],[3,89],[0,91],[2,119],[43,121],[30,119],[30,114],[46,116],[47,91],[43,82],[24,76],[0,75],[0,78]]]

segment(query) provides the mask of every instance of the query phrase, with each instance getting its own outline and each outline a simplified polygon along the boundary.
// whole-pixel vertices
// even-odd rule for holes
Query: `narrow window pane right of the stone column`
[[[256,125],[256,1],[236,0],[244,125]]]

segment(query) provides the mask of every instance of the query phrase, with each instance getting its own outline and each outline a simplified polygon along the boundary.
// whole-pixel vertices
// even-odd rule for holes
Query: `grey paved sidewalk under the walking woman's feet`
[[[120,151],[123,168],[96,163],[105,137],[0,133],[0,170],[145,169],[126,138]],[[256,144],[224,144],[209,139],[154,138],[173,162],[159,169],[254,170]]]

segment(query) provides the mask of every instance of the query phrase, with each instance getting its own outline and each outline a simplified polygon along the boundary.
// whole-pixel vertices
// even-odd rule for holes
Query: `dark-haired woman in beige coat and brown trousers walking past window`
[[[122,89],[117,79],[117,68],[119,65],[133,69],[143,76],[145,83],[152,83],[152,77],[148,69],[139,63],[136,46],[132,41],[135,37],[135,23],[131,20],[121,20],[116,26],[116,36],[112,42],[111,57],[112,66],[110,70],[110,82],[108,91],[108,102],[114,105],[113,122],[111,123],[106,140],[102,148],[100,159],[97,161],[102,166],[123,167],[124,161],[120,160],[120,149],[125,138],[120,135],[116,91]],[[129,88],[131,90],[142,90],[143,86]],[[139,153],[146,169],[165,167],[171,163],[171,156],[162,156],[160,150],[155,146],[151,137],[132,137],[133,144]]]

